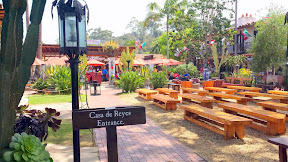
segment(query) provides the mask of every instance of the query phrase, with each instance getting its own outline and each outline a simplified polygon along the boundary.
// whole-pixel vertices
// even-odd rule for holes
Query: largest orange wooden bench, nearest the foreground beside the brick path
[[[250,119],[198,105],[181,105],[181,108],[184,109],[185,120],[219,133],[225,140],[232,139],[234,136],[244,138],[244,126],[252,123]]]

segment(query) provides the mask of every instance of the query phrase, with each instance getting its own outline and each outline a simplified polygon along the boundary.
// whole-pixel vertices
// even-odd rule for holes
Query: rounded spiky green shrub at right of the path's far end
[[[116,80],[116,87],[123,92],[134,92],[138,87],[144,85],[144,78],[136,72],[125,72]]]

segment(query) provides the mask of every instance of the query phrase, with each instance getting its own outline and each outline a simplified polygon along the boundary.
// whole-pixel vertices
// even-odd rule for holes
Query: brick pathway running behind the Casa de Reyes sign
[[[104,84],[105,85],[105,84]],[[115,95],[119,90],[103,89],[100,96],[89,96],[90,108],[127,105]],[[100,161],[107,161],[105,128],[94,129]],[[205,161],[147,117],[147,123],[117,127],[119,161]]]

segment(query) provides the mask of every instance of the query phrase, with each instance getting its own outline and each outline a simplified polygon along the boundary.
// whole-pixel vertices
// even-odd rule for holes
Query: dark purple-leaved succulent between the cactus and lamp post
[[[60,115],[55,109],[45,108],[45,112],[41,110],[24,110],[23,115],[17,118],[14,126],[15,133],[26,132],[35,135],[41,141],[48,137],[48,127],[56,132],[60,127],[61,121],[56,119]]]

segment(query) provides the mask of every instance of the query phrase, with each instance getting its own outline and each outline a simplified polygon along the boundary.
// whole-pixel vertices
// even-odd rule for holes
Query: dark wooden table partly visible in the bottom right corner
[[[287,162],[288,137],[270,138],[268,142],[279,146],[279,161]]]

